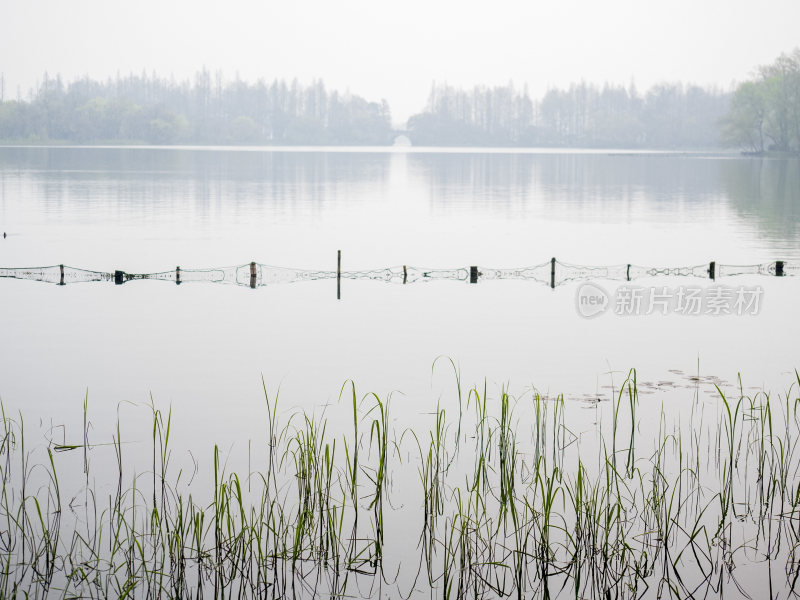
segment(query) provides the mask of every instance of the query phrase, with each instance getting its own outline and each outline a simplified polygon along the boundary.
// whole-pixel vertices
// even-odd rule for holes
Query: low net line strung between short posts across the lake
[[[648,267],[642,265],[592,266],[550,261],[514,269],[488,267],[460,267],[455,269],[423,269],[407,265],[364,271],[319,271],[275,267],[261,263],[247,263],[211,269],[181,269],[157,273],[102,272],[78,269],[65,265],[48,267],[0,268],[0,279],[25,279],[56,285],[92,281],[113,281],[117,284],[139,279],[169,281],[173,283],[206,282],[257,288],[301,281],[322,279],[348,279],[382,281],[391,284],[411,284],[429,281],[460,281],[478,283],[500,279],[527,280],[557,287],[572,282],[590,280],[633,281],[647,277],[696,277],[719,279],[740,275],[798,276],[800,264],[774,261],[753,265],[721,265],[714,262],[686,267]]]

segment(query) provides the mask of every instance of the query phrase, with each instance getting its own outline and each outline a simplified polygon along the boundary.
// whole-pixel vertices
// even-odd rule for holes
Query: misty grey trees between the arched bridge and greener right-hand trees
[[[532,100],[512,83],[463,90],[434,84],[408,121],[416,144],[710,148],[730,95],[683,84],[644,94],[634,86],[580,83]]]

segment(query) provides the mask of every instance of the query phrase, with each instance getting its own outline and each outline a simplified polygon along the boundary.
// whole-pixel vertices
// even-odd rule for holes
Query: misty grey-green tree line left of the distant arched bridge
[[[20,142],[388,144],[392,138],[386,101],[329,92],[322,81],[226,83],[207,70],[193,81],[142,73],[65,84],[45,75],[28,101],[0,104],[0,139]]]

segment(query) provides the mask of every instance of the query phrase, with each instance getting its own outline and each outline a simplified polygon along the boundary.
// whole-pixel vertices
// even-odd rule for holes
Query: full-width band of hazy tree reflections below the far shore
[[[652,234],[669,223],[673,231],[662,232],[659,242],[665,246],[688,236],[687,228],[699,223],[724,223],[715,234],[712,252],[725,252],[719,239],[729,238],[730,249],[754,247],[750,254],[763,249],[754,260],[772,257],[776,248],[784,253],[780,258],[793,259],[800,253],[799,196],[796,160],[676,154],[0,148],[5,220],[24,215],[31,225],[103,223],[112,228],[168,223],[165,229],[187,228],[189,237],[192,230],[202,237],[217,228],[241,236],[243,224],[266,235],[276,222],[287,231],[293,227],[308,232],[324,215],[331,218],[328,226],[337,233],[330,236],[337,239],[367,239],[379,235],[368,233],[370,229],[380,230],[380,240],[368,239],[374,246],[395,238],[406,243],[405,232],[415,229],[427,228],[430,236],[441,237],[451,231],[454,217],[463,217],[480,222],[487,235],[504,235],[523,220],[556,228],[623,225],[627,230],[617,235],[633,237],[641,228]],[[485,217],[496,222],[490,226]],[[767,248],[754,246],[754,229]],[[291,241],[288,233],[282,235]],[[642,247],[638,237],[636,244]],[[545,252],[554,251],[548,247]],[[637,260],[633,255],[638,252],[629,253],[625,260]]]

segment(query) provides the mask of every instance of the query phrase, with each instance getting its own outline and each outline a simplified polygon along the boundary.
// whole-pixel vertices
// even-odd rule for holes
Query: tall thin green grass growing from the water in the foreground
[[[0,597],[800,594],[797,374],[777,396],[717,388],[687,419],[644,411],[631,371],[573,431],[563,397],[463,398],[454,371],[457,416],[437,404],[427,430],[395,431],[390,399],[352,382],[336,432],[264,386],[254,465],[250,445],[246,473],[214,446],[196,466],[211,489],[176,471],[178,423],[152,401],[144,471],[119,420],[90,443],[88,399],[77,444],[30,446],[0,405]]]

